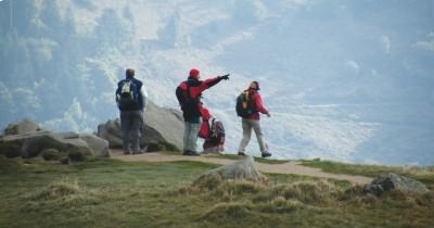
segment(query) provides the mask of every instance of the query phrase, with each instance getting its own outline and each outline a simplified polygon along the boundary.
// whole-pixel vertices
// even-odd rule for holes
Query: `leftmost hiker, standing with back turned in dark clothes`
[[[146,91],[143,83],[135,78],[135,69],[127,68],[125,72],[126,78],[119,80],[116,90],[116,103],[120,112],[120,129],[123,137],[123,150],[124,154],[139,154],[143,153],[140,149],[140,137],[143,128],[143,113],[146,107]],[[132,90],[128,91],[133,97],[132,101],[128,101],[125,104],[122,93],[125,83],[131,83],[133,85]],[[127,88],[128,89],[128,88]],[[133,94],[137,93],[137,94]],[[133,96],[132,96],[133,94]]]

